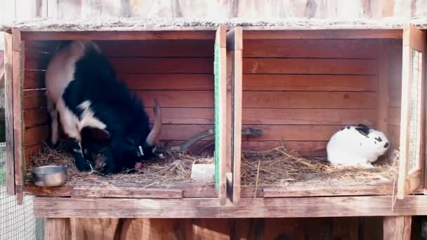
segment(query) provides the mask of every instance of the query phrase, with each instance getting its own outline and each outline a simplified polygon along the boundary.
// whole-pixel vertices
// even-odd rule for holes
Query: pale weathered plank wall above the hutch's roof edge
[[[0,1],[0,20],[37,17],[190,18],[387,18],[427,13],[424,0],[9,0]]]

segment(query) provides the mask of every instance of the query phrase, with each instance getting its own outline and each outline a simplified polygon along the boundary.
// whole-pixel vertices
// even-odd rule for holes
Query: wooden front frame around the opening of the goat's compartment
[[[218,43],[221,48],[221,81],[225,83],[226,65],[225,65],[225,26],[218,27]],[[73,196],[73,197],[114,197],[114,198],[148,198],[148,199],[177,199],[177,198],[220,198],[222,203],[226,200],[226,185],[225,185],[225,170],[221,170],[221,187],[216,189],[213,185],[183,185],[179,189],[159,189],[147,188],[138,189],[135,186],[123,187],[36,187],[24,186],[25,182],[25,161],[18,161],[18,159],[25,159],[23,151],[23,135],[25,134],[22,126],[22,69],[24,68],[25,53],[24,53],[24,39],[27,41],[32,40],[61,40],[61,39],[109,39],[109,40],[124,40],[124,39],[215,39],[216,34],[213,29],[203,29],[201,31],[188,31],[185,28],[178,31],[142,31],[142,32],[21,32],[18,29],[13,29],[13,36],[10,51],[13,55],[13,97],[16,101],[13,102],[13,126],[15,139],[8,141],[8,145],[14,149],[14,160],[12,159],[13,173],[15,180],[13,181],[14,187],[11,187],[17,194],[18,200],[22,202],[22,196],[32,194],[34,196]],[[218,36],[219,36],[218,35]],[[11,74],[9,74],[11,75]],[[11,75],[12,76],[12,75]],[[225,84],[221,93],[225,93]],[[221,109],[225,109],[226,102],[224,102],[225,94],[222,94],[223,101],[221,102]],[[224,115],[224,114],[223,114]],[[225,115],[221,117],[225,119]],[[223,120],[222,120],[223,121]],[[12,129],[12,128],[10,128]],[[13,147],[13,145],[15,145]],[[225,147],[223,145],[222,147]],[[225,151],[223,151],[225,152]],[[221,168],[225,167],[223,161],[225,157],[221,157]],[[8,178],[9,179],[9,178]],[[10,178],[12,179],[12,178]],[[16,183],[16,184],[15,184]]]

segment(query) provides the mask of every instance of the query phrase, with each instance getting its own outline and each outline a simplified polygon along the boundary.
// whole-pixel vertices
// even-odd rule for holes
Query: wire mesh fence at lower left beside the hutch
[[[0,129],[4,129],[4,109],[0,109]],[[6,142],[0,131],[0,240],[44,239],[44,219],[34,218],[33,198],[25,196],[18,205],[6,191]]]

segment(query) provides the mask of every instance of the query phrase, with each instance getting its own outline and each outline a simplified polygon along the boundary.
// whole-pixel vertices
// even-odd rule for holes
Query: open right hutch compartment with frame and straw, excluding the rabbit
[[[232,131],[235,201],[384,194],[403,199],[424,185],[423,30],[247,29],[240,42],[230,41],[239,37],[232,34],[228,45],[239,43],[229,51],[232,126],[262,131]],[[331,135],[357,124],[383,132],[390,148],[373,168],[332,166],[326,151]]]

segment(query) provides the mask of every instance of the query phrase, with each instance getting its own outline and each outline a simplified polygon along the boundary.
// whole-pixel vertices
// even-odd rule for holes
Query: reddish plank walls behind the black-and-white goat
[[[213,39],[98,41],[119,79],[137,93],[152,117],[154,99],[163,112],[160,140],[178,145],[192,135],[213,128]],[[44,71],[53,42],[26,43],[24,122],[27,159],[48,140]],[[197,142],[200,149],[213,138]]]

